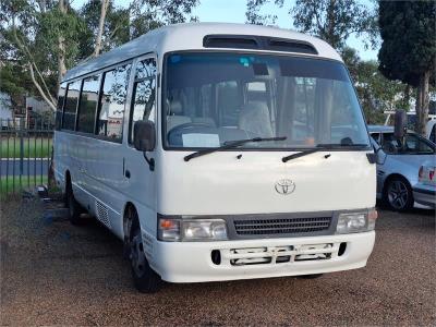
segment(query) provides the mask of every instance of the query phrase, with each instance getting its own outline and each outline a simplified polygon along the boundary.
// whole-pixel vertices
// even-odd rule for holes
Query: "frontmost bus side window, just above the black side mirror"
[[[132,107],[129,123],[129,143],[133,142],[133,125],[138,120],[155,121],[156,61],[146,59],[137,63],[133,84]]]

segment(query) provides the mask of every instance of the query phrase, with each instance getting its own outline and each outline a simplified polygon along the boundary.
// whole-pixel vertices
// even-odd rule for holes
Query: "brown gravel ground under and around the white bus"
[[[380,211],[363,269],[135,291],[122,243],[95,220],[1,204],[0,325],[436,325],[435,211]]]

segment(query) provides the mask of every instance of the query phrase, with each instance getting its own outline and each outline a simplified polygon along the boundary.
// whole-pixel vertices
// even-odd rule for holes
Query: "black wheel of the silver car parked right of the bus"
[[[413,191],[407,179],[395,177],[384,187],[384,202],[395,211],[407,211],[413,207]]]

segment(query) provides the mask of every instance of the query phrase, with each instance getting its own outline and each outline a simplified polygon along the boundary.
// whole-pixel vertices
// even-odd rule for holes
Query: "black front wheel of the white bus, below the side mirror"
[[[155,293],[160,288],[160,277],[148,265],[144,254],[141,227],[135,210],[131,210],[132,229],[130,233],[130,262],[135,288],[142,293]]]

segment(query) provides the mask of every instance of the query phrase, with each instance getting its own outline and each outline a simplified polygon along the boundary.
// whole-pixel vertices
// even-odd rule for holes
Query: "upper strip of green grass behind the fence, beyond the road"
[[[15,140],[15,147],[14,147]],[[48,137],[31,137],[23,138],[23,157],[24,158],[49,158],[51,153],[52,138]],[[20,158],[20,138],[1,138],[0,157],[1,158]]]

